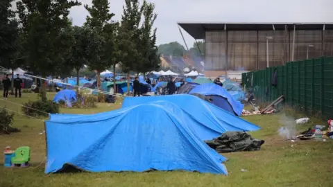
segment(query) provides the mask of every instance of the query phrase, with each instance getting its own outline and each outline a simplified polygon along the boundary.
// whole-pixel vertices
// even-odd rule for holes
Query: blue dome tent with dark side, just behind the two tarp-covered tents
[[[223,87],[220,87],[214,83],[200,84],[194,87],[189,94],[202,94],[204,96],[210,96],[212,103],[231,114],[241,115],[241,111],[244,105],[235,100]]]

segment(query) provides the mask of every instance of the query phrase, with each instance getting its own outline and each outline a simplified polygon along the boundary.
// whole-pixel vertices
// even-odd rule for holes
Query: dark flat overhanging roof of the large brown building
[[[178,22],[194,39],[204,39],[207,30],[333,30],[333,23],[196,23]]]

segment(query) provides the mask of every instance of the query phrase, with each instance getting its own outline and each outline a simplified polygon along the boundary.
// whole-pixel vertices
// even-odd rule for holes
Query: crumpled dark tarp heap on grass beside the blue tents
[[[260,150],[265,141],[253,139],[247,132],[230,131],[205,143],[216,152],[223,153]]]

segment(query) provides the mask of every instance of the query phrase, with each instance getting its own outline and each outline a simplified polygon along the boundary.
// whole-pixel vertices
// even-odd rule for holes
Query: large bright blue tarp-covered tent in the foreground
[[[150,114],[150,115],[146,115]],[[177,116],[176,116],[177,115]],[[88,115],[51,114],[45,173],[187,170],[227,175],[225,157],[200,139],[205,127],[176,105],[145,104]]]

